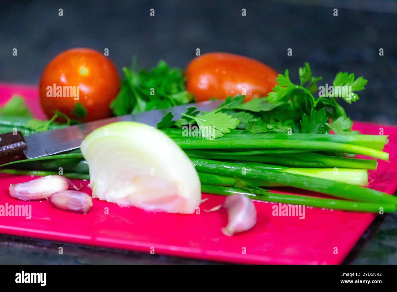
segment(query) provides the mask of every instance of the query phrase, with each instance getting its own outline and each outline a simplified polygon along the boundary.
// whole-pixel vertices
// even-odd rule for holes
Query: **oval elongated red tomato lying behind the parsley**
[[[245,101],[263,97],[276,84],[277,72],[254,59],[228,53],[209,53],[187,66],[186,89],[197,101],[245,95]],[[244,94],[245,93],[245,94]]]

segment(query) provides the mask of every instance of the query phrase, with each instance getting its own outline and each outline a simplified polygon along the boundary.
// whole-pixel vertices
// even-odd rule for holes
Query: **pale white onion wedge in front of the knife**
[[[162,131],[116,122],[81,143],[93,198],[147,211],[192,214],[200,204],[200,180],[179,146]]]

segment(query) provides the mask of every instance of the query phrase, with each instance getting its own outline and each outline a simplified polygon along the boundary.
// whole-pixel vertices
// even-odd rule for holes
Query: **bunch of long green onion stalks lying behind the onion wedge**
[[[8,127],[0,125],[0,130],[1,126]],[[380,207],[393,212],[396,208],[397,198],[354,185],[368,182],[366,169],[376,169],[376,160],[313,153],[353,153],[387,160],[388,153],[382,152],[386,136],[247,134],[234,130],[224,137],[206,140],[181,137],[178,131],[165,132],[191,158],[203,192],[225,195],[245,191],[258,200],[362,212],[378,212]],[[58,174],[60,167],[68,178],[89,179],[87,162],[79,151],[10,162],[0,172],[44,176]],[[274,194],[259,188],[272,186],[291,186],[350,201]]]

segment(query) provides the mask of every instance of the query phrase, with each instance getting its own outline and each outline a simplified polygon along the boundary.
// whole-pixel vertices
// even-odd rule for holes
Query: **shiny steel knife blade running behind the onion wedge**
[[[184,104],[160,110],[150,110],[139,114],[127,114],[124,116],[97,120],[84,124],[77,124],[62,129],[45,131],[24,137],[26,149],[23,153],[28,159],[54,155],[80,147],[83,139],[96,128],[120,121],[133,121],[156,127],[162,117],[168,112],[174,115],[174,120],[179,119],[187,108],[195,106],[200,111],[211,111],[217,108],[223,101],[203,101]]]

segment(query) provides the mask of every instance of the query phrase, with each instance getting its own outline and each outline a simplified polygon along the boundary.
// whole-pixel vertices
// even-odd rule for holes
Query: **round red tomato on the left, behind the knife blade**
[[[117,70],[107,57],[89,48],[74,48],[56,56],[44,69],[39,100],[48,118],[58,110],[88,122],[111,116],[109,104],[119,89]]]

